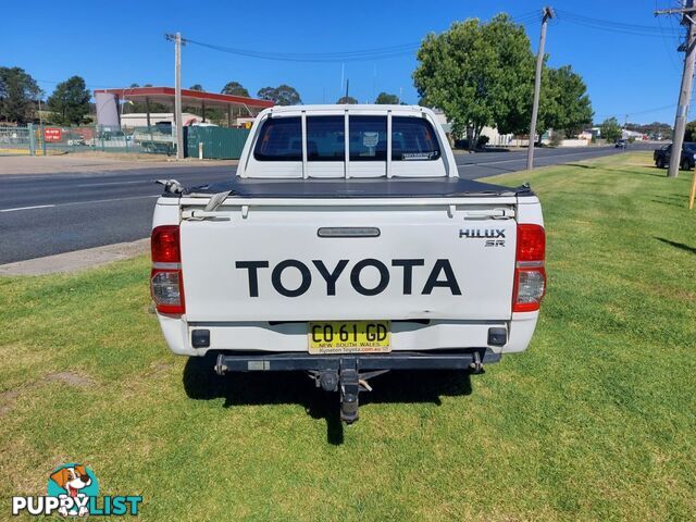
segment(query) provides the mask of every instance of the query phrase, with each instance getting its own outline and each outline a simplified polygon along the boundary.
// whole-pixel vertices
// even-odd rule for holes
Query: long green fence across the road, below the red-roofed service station
[[[244,128],[184,127],[184,156],[238,159],[249,135]],[[102,151],[149,154],[176,153],[176,138],[169,125],[113,129],[96,125],[0,126],[0,156],[47,156]]]

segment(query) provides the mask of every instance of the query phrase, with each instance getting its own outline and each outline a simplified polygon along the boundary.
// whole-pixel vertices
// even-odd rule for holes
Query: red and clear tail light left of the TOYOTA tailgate
[[[150,244],[152,248],[150,293],[157,311],[182,314],[186,312],[186,306],[178,225],[154,227]]]

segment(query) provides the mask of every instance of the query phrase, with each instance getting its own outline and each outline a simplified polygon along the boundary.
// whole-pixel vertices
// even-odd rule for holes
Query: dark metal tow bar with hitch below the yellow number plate
[[[340,419],[358,420],[360,391],[372,391],[368,381],[390,370],[468,370],[483,372],[484,363],[497,362],[489,348],[455,352],[390,352],[374,355],[310,356],[309,353],[220,355],[215,373],[258,371],[306,371],[318,388],[338,391]]]

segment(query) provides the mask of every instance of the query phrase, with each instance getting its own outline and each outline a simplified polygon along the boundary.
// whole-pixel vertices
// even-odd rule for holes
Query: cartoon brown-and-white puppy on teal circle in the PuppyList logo
[[[89,514],[88,497],[96,497],[98,494],[95,473],[83,464],[61,465],[50,474],[48,495],[61,500],[58,512],[63,517]]]

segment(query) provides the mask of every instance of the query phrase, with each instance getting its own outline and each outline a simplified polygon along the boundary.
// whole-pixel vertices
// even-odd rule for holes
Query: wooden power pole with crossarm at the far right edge
[[[684,71],[682,73],[682,87],[679,91],[679,104],[676,105],[676,116],[674,117],[674,133],[672,134],[672,152],[670,153],[670,169],[668,177],[679,175],[679,166],[682,161],[682,146],[684,145],[684,129],[686,128],[686,117],[688,115],[688,102],[692,95],[692,83],[694,79],[694,49],[696,48],[696,22],[692,14],[696,11],[694,0],[683,0],[682,9],[663,9],[655,11],[655,14],[681,14],[682,24],[686,26],[686,42],[684,46]]]

